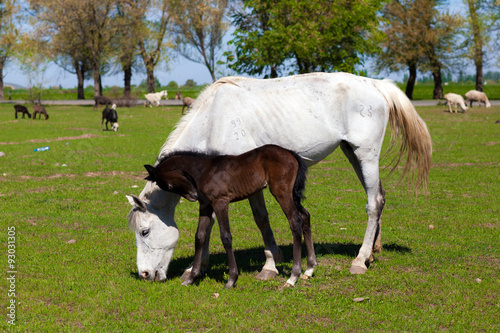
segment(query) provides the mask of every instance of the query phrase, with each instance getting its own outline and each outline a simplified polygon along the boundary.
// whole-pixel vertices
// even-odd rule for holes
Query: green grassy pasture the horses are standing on
[[[232,290],[223,290],[217,228],[210,270],[181,286],[197,224],[197,204],[185,200],[176,211],[181,236],[168,280],[137,278],[125,195],[142,190],[143,164],[155,161],[180,107],[118,109],[116,133],[100,131],[91,106],[47,110],[48,121],[15,120],[12,106],[0,105],[0,331],[500,331],[500,106],[465,114],[418,108],[433,139],[428,192],[415,197],[396,184],[397,175],[384,180],[384,250],[365,275],[348,269],[363,239],[366,197],[340,150],[309,171],[304,206],[319,262],[313,279],[282,288],[292,236],[266,193],[286,260],[276,279],[257,281],[261,236],[249,205],[232,204],[241,273]],[[34,152],[43,146],[50,150]],[[15,326],[7,322],[12,313]]]

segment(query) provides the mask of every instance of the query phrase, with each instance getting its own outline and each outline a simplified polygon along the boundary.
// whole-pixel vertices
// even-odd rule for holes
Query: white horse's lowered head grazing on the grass
[[[148,182],[144,190],[153,186],[155,189],[152,191],[156,194],[148,198],[149,202],[136,196],[127,196],[133,207],[128,215],[128,222],[135,232],[139,277],[164,281],[179,239],[174,221],[174,209],[179,196],[164,192],[151,182]]]

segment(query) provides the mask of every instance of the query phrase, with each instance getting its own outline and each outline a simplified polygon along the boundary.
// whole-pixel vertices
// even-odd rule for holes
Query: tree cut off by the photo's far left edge
[[[4,100],[3,76],[4,69],[13,55],[13,47],[19,35],[15,25],[15,15],[19,7],[15,0],[0,2],[0,100]]]

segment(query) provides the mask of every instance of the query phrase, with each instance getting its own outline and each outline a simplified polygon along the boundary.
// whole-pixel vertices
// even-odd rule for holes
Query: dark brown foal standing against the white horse
[[[225,288],[235,285],[238,267],[229,227],[229,203],[247,199],[267,186],[285,213],[293,234],[293,268],[287,283],[295,285],[301,275],[302,235],[307,249],[305,276],[312,276],[317,262],[310,216],[301,205],[307,167],[294,152],[275,145],[265,145],[237,156],[177,152],[165,156],[156,167],[145,165],[145,168],[149,173],[146,179],[156,182],[162,190],[200,202],[194,263],[184,285],[192,284],[201,275],[205,235],[214,212],[229,263]],[[138,204],[141,204],[140,200]],[[143,271],[141,277],[147,280],[156,278],[147,271]]]

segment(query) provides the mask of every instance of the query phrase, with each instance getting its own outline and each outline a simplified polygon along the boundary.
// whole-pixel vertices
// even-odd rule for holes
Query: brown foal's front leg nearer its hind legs
[[[229,202],[214,203],[215,215],[219,222],[220,239],[226,250],[229,265],[229,279],[224,286],[225,289],[234,287],[238,280],[238,266],[236,265],[236,258],[233,252],[233,237],[231,236],[231,229],[229,227],[228,209]]]

